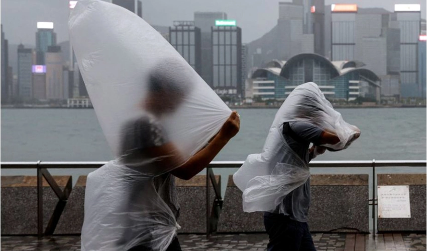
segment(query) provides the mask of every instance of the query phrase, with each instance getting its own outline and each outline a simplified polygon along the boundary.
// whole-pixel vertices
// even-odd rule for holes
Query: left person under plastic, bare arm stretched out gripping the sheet
[[[163,66],[152,71],[149,76],[148,94],[141,102],[144,112],[141,116],[125,122],[122,128],[118,166],[125,171],[119,177],[110,179],[106,174],[96,176],[100,182],[111,182],[111,189],[119,190],[112,199],[113,203],[107,205],[117,210],[108,209],[112,213],[99,220],[101,223],[96,222],[96,226],[91,226],[89,221],[87,227],[83,226],[83,229],[88,229],[86,235],[92,235],[83,236],[82,231],[82,243],[84,242],[85,246],[101,247],[102,250],[181,250],[176,236],[176,230],[179,229],[176,223],[179,204],[175,177],[189,180],[195,176],[239,132],[240,115],[233,111],[218,134],[185,161],[180,155],[179,146],[174,145],[168,138],[160,121],[162,116],[179,108],[180,103],[190,93],[191,85],[187,83],[185,74],[179,77],[164,74],[164,67],[171,65],[165,62],[162,64]],[[167,170],[170,167],[177,168],[156,174],[157,170]],[[109,175],[115,170],[108,172]],[[115,184],[119,185],[116,187]],[[108,192],[99,191],[92,197],[106,193]],[[93,205],[94,207],[96,205]],[[85,207],[85,214],[88,210],[93,209]],[[91,213],[96,215],[96,212]],[[105,230],[106,228],[112,229],[109,231]],[[167,239],[171,233],[171,238]],[[166,242],[168,245],[165,246]]]

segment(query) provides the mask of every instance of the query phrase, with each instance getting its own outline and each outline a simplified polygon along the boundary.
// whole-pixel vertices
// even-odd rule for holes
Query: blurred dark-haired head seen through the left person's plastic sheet
[[[161,60],[148,76],[144,108],[155,115],[175,111],[191,91],[189,67],[175,58]]]

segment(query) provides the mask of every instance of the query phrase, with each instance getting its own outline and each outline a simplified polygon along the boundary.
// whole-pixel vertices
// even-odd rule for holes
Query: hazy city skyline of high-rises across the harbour
[[[118,1],[113,1],[113,3],[116,2],[118,4]],[[120,1],[122,2],[118,5],[133,3],[133,0]],[[288,1],[292,1],[292,3],[278,3],[276,10],[279,16],[277,25],[263,35],[262,38],[254,41],[256,43],[247,45],[242,43],[242,33],[245,31],[239,27],[234,17],[230,17],[225,12],[197,11],[193,13],[193,21],[188,21],[191,19],[187,21],[175,20],[172,22],[173,27],[157,27],[156,29],[196,69],[206,83],[221,96],[245,98],[246,80],[244,79],[246,79],[246,76],[251,79],[256,78],[256,81],[259,80],[258,78],[263,78],[262,81],[273,81],[272,83],[275,89],[277,87],[278,91],[274,96],[267,95],[267,93],[271,93],[272,86],[264,86],[264,84],[272,83],[262,82],[261,86],[254,86],[257,89],[254,94],[263,98],[283,98],[289,92],[286,88],[289,89],[298,85],[297,83],[309,81],[318,82],[318,84],[321,84],[321,89],[326,86],[328,88],[327,92],[330,92],[332,98],[345,98],[346,100],[350,100],[351,95],[357,94],[362,97],[370,95],[379,101],[380,91],[378,88],[380,87],[381,79],[389,83],[390,88],[394,88],[397,85],[401,86],[401,88],[399,87],[401,90],[395,95],[402,95],[402,97],[418,96],[418,91],[423,89],[425,84],[418,81],[420,79],[418,77],[418,72],[420,72],[418,65],[422,65],[423,62],[417,62],[415,55],[417,47],[422,46],[422,44],[418,43],[418,36],[425,34],[425,21],[421,24],[420,20],[420,5],[401,6],[403,8],[414,8],[410,9],[409,12],[406,9],[403,12],[399,10],[399,5],[395,6],[395,11],[388,12],[382,8],[361,8],[348,4],[332,5],[331,11],[331,6],[327,6],[325,3],[327,1],[325,0]],[[141,2],[139,1],[139,3]],[[326,8],[324,8],[325,6]],[[133,6],[124,5],[124,7],[132,11]],[[142,13],[140,10],[138,12],[139,14]],[[133,16],[130,13],[129,15]],[[319,18],[315,21],[317,16]],[[325,24],[325,27],[317,27],[317,29],[314,26],[315,24]],[[153,26],[156,27],[155,25]],[[55,30],[53,30],[54,28]],[[190,32],[190,30],[192,31]],[[57,44],[57,31],[58,25],[56,23],[47,22],[46,20],[37,22],[36,48],[34,51],[31,46],[26,49],[34,55],[32,57],[33,64],[38,66],[46,65],[44,95],[48,100],[87,96],[87,93],[84,95],[80,90],[83,80],[78,76],[77,68],[73,69],[74,67],[69,66],[68,56],[71,55],[71,52],[67,53],[70,48],[67,45],[68,41],[59,43],[57,50],[50,51]],[[406,33],[408,34],[405,35]],[[7,33],[6,36],[2,35],[2,39],[8,37]],[[317,41],[317,50],[314,49],[315,41]],[[411,43],[410,48],[407,45],[408,42]],[[6,40],[4,44],[6,46]],[[60,47],[62,44],[64,48]],[[242,49],[243,45],[245,45],[244,50]],[[323,49],[325,49],[325,52],[323,52]],[[19,52],[20,50],[18,49]],[[244,57],[242,57],[242,52],[245,54]],[[402,52],[400,57],[399,52]],[[317,56],[308,56],[314,54],[324,58],[318,59]],[[35,57],[36,55],[37,57]],[[262,61],[258,60],[260,55],[263,56]],[[371,55],[376,56],[372,57]],[[246,67],[247,56],[249,56],[250,69]],[[313,58],[308,59],[309,57]],[[13,58],[14,56],[12,56]],[[24,94],[24,92],[32,94],[34,92],[44,96],[41,91],[39,93],[38,90],[33,91],[31,89],[31,78],[28,78],[28,81],[22,81],[26,76],[24,73],[31,72],[31,64],[29,64],[30,66],[21,67],[20,62],[24,63],[25,60],[22,57],[19,57],[19,59],[17,62],[19,91],[14,95],[18,94],[27,100],[33,95]],[[285,63],[287,60],[289,60],[289,64]],[[298,62],[293,62],[295,60]],[[313,60],[317,60],[318,65],[313,64]],[[310,74],[313,70],[330,71],[331,69],[328,66],[322,66],[325,60],[331,61],[332,63],[329,63],[329,65],[332,64],[337,69],[339,68],[338,65],[341,65],[340,61],[343,60],[350,62],[350,64],[355,64],[355,66],[348,65],[346,70],[344,68],[341,69],[343,70],[342,77],[337,74],[325,76],[331,82],[323,83],[325,79],[319,78],[318,74],[315,76]],[[14,64],[13,60],[10,61]],[[245,61],[245,66],[242,68],[243,61]],[[292,67],[294,69],[292,68],[292,71],[290,71],[293,73],[285,74],[285,68],[283,68],[279,74],[278,68],[284,66],[289,68],[289,65],[292,64],[290,61],[293,62]],[[273,66],[270,65],[271,62],[273,62]],[[275,65],[277,62],[280,66]],[[270,66],[267,66],[267,64]],[[366,66],[365,70],[356,70],[356,68],[363,66]],[[277,76],[272,76],[268,72],[266,74],[253,75],[254,67],[267,69],[267,71]],[[74,70],[76,71],[74,72]],[[353,70],[355,70],[354,74],[347,74]],[[249,76],[248,72],[251,72],[252,76]],[[365,74],[364,78],[369,79],[368,81],[359,77],[359,75],[363,74]],[[389,75],[400,75],[399,79],[401,81],[397,83]],[[410,79],[408,78],[409,75]],[[37,77],[33,79],[41,81],[41,77],[40,79]],[[34,84],[37,85],[37,81]],[[323,86],[322,83],[326,85]],[[254,82],[254,84],[258,84],[258,82]],[[357,86],[353,86],[354,84],[357,84]],[[330,90],[331,86],[337,87],[337,89]],[[346,94],[346,88],[350,87],[352,90],[350,92],[347,90]],[[355,91],[356,87],[357,90],[361,91]],[[369,91],[369,88],[366,89],[365,87],[372,87],[375,90],[371,88],[372,90]],[[259,88],[262,90],[258,91]],[[24,91],[24,89],[28,89],[28,91]],[[394,94],[388,93],[388,95]],[[250,97],[253,97],[253,95],[250,94]],[[351,98],[355,99],[356,97],[352,96]]]

